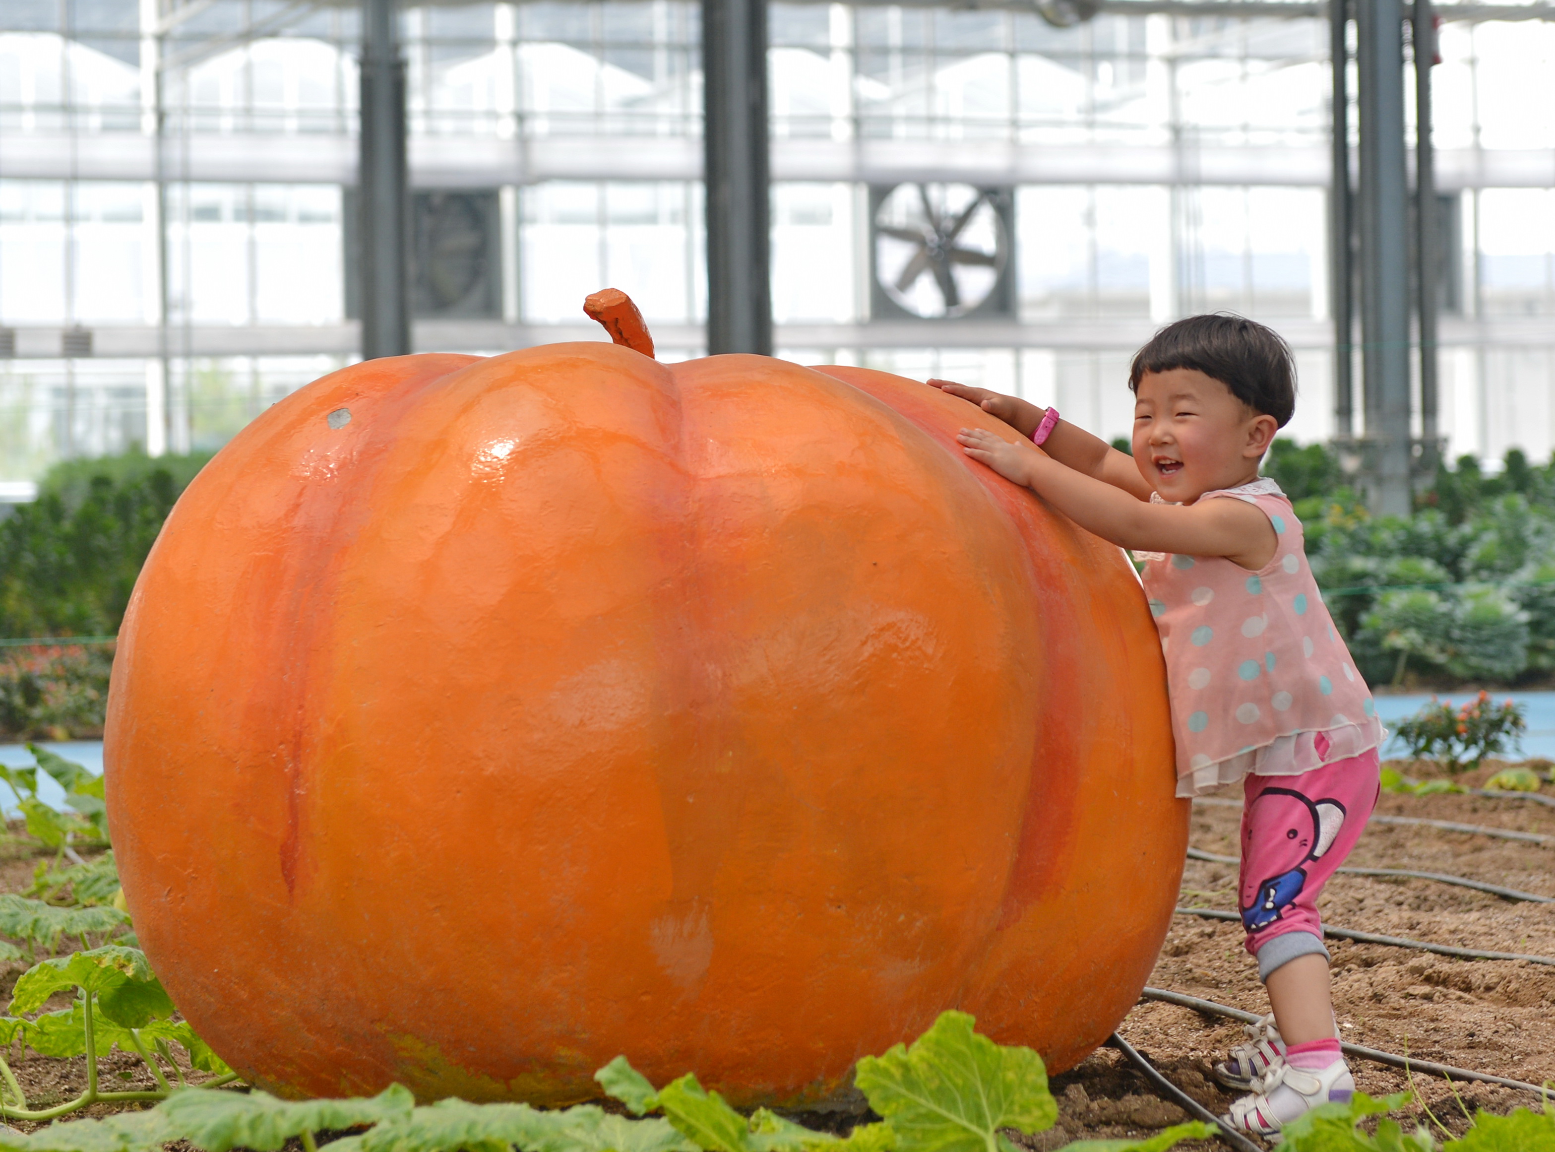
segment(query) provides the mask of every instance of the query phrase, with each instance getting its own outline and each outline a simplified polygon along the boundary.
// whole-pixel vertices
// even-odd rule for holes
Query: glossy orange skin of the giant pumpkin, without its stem
[[[196,479],[104,760],[233,1068],[566,1102],[624,1053],[798,1102],[952,1006],[1054,1066],[1116,1025],[1186,843],[1138,586],[949,440],[997,421],[827,372],[369,361]]]

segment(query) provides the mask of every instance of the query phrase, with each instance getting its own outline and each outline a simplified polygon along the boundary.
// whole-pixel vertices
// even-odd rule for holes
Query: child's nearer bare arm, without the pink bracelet
[[[1225,557],[1252,571],[1267,564],[1278,549],[1269,518],[1244,501],[1205,501],[1188,507],[1144,504],[1061,465],[1036,445],[1009,443],[980,428],[964,428],[956,438],[973,460],[1006,480],[1023,483],[1087,532],[1120,547]]]

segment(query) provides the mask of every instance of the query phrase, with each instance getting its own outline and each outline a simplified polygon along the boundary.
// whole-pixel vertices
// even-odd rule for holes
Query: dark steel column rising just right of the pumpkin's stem
[[[708,351],[773,350],[767,0],[701,0]]]

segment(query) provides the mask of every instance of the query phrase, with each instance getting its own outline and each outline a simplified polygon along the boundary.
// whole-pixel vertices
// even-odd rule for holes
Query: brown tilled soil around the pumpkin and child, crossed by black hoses
[[[1418,766],[1395,766],[1415,777],[1431,776]],[[1487,765],[1462,782],[1482,784],[1499,766]],[[1544,794],[1555,796],[1555,788],[1546,787]],[[1214,799],[1239,802],[1239,788],[1227,788]],[[1384,794],[1378,812],[1555,836],[1555,807],[1533,801]],[[1236,804],[1196,804],[1190,843],[1205,852],[1236,855],[1239,816]],[[34,863],[14,855],[0,858],[0,891],[25,889]],[[1373,822],[1347,863],[1446,872],[1555,897],[1555,843],[1532,844]],[[1235,909],[1236,866],[1190,860],[1179,903]],[[1555,903],[1510,902],[1427,880],[1336,875],[1320,900],[1320,909],[1325,922],[1344,928],[1555,956]],[[1555,1079],[1555,967],[1521,961],[1459,961],[1345,941],[1328,941],[1328,948],[1334,958],[1334,1009],[1345,1040],[1533,1084]],[[8,992],[23,969],[23,964],[9,965],[0,975],[0,987]],[[1242,950],[1241,928],[1230,922],[1176,917],[1151,984],[1249,1012],[1267,1011],[1256,965]],[[62,997],[50,1004],[65,1006]],[[1146,1001],[1129,1014],[1118,1032],[1214,1113],[1224,1113],[1230,1105],[1232,1094],[1210,1079],[1210,1065],[1242,1039],[1239,1023]],[[34,1108],[70,1099],[84,1087],[84,1060],[33,1054],[17,1060],[14,1049],[8,1059]],[[115,1053],[101,1066],[104,1088],[134,1091],[154,1087],[138,1059]],[[1351,1060],[1351,1066],[1358,1087],[1373,1096],[1410,1090],[1403,1071],[1364,1060]],[[1415,1076],[1413,1091],[1418,1102],[1409,1113],[1431,1122],[1423,1104],[1455,1133],[1468,1126],[1465,1108],[1468,1113],[1479,1108],[1510,1112],[1518,1105],[1538,1104],[1530,1093],[1479,1084],[1457,1087],[1455,1098],[1452,1085],[1429,1076]],[[1186,1119],[1112,1049],[1101,1049],[1078,1068],[1053,1077],[1053,1094],[1059,1101],[1057,1126],[1020,1138],[1033,1152],[1050,1152],[1071,1140],[1146,1136]],[[106,1110],[100,1105],[89,1115]],[[840,1119],[832,1118],[826,1126],[835,1127]],[[1222,1146],[1207,1141],[1180,1147]]]

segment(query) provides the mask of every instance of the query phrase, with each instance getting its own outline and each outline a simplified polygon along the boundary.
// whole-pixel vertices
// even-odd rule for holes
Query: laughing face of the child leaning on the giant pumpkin
[[[1258,476],[1278,424],[1197,368],[1146,372],[1134,401],[1134,462],[1176,504]]]

